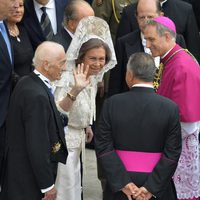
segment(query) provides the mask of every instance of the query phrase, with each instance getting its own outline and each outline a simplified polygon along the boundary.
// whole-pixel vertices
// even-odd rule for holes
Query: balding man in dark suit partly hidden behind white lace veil
[[[79,21],[87,16],[94,16],[94,11],[86,1],[70,1],[64,11],[63,27],[53,38],[53,41],[62,44],[65,51],[67,51]]]

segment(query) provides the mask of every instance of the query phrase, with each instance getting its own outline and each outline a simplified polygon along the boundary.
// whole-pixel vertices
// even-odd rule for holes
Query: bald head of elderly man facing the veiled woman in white
[[[65,69],[65,50],[62,45],[45,41],[40,44],[33,57],[35,68],[51,81],[59,80]]]

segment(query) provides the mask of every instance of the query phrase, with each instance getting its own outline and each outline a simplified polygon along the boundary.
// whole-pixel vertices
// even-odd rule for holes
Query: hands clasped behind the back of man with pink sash
[[[138,188],[134,183],[128,183],[122,188],[122,192],[127,196],[128,200],[149,200],[152,197],[152,194],[146,188]]]

